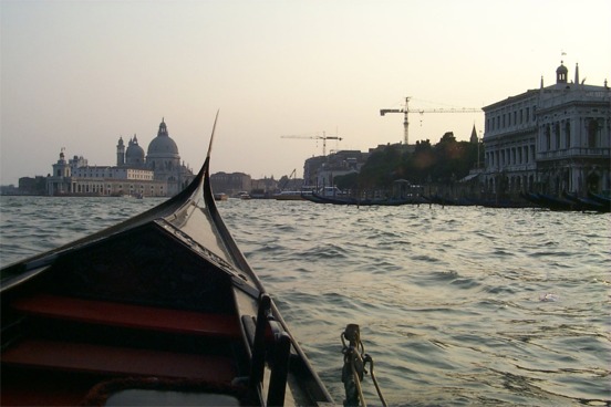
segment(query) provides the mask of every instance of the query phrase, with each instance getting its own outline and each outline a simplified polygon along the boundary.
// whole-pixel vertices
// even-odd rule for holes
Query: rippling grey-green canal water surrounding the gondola
[[[2,197],[1,263],[159,201]],[[611,405],[609,213],[218,205],[338,404],[356,323],[392,405]]]

